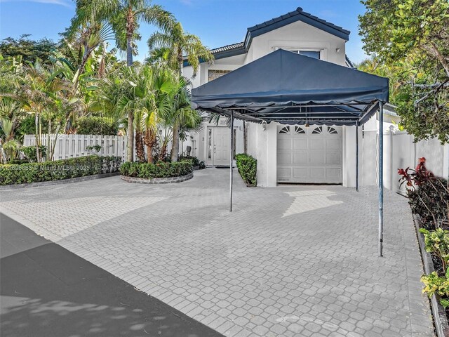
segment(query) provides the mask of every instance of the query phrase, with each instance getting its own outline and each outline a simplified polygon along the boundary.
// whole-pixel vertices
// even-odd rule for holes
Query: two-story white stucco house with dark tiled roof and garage
[[[279,48],[353,67],[345,54],[348,40],[348,30],[297,8],[279,18],[249,27],[243,42],[213,49],[215,61],[212,64],[202,62],[196,76],[188,64],[184,74],[196,88]],[[391,121],[391,114],[385,120]],[[333,183],[355,186],[355,127],[246,122],[246,137],[243,128],[243,121],[236,120],[232,131],[236,140],[233,152],[243,152],[246,138],[248,154],[257,159],[257,185]],[[359,155],[364,149],[366,154],[361,157],[361,167],[365,169],[359,170],[360,182],[374,185],[375,117],[363,128],[359,128],[359,139],[363,141]],[[187,145],[192,147],[191,154],[208,166],[229,165],[230,132],[225,117],[218,125],[205,122],[201,133],[192,134]]]

